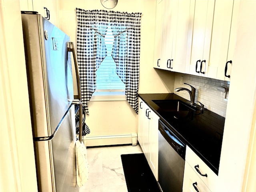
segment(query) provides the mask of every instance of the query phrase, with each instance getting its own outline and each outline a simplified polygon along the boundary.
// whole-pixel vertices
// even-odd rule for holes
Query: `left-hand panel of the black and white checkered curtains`
[[[76,8],[77,60],[82,102],[89,114],[88,102],[96,90],[96,70],[107,56],[104,37],[108,28],[108,12]]]

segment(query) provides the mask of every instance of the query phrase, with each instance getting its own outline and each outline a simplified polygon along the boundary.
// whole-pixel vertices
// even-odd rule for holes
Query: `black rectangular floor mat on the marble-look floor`
[[[121,155],[121,159],[128,192],[160,192],[143,153]]]

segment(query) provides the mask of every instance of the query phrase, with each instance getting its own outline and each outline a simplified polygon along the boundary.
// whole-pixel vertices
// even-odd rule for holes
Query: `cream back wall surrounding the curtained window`
[[[100,0],[59,0],[59,28],[76,42],[76,8],[103,9]],[[155,0],[119,0],[112,10],[142,12],[139,93],[173,92],[174,74],[153,68]],[[138,115],[127,101],[90,101],[86,115],[89,136],[137,132]]]

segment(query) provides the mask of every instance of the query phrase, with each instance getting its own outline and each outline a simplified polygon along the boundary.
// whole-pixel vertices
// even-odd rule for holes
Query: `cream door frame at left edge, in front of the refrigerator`
[[[37,191],[19,0],[0,0],[0,191]]]

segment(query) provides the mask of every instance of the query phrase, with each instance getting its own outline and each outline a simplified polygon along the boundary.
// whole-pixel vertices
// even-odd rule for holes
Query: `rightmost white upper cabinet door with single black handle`
[[[230,81],[240,1],[216,0],[207,77]]]

